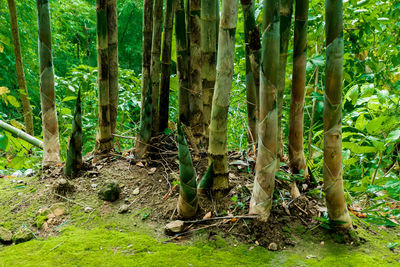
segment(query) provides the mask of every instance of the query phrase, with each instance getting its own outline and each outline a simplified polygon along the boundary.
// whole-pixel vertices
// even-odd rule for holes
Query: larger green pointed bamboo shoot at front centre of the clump
[[[178,214],[184,218],[196,215],[198,208],[196,170],[182,131],[178,126],[179,178],[180,190],[178,198]]]

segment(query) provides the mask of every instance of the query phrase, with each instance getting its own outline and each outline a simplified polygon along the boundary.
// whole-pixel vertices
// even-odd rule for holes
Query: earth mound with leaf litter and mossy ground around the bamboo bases
[[[352,214],[358,238],[333,234],[318,219],[326,211],[323,199],[301,184],[301,196],[291,200],[288,182],[277,180],[268,223],[247,218],[253,163],[240,152],[229,160],[229,193],[219,200],[201,196],[197,217],[173,236],[164,228],[179,219],[176,151],[148,161],[132,161],[128,153],[87,164],[69,180],[73,190],[59,190],[62,166],[0,177],[0,235],[8,230],[19,243],[0,243],[0,266],[400,266],[399,246],[393,246],[400,243],[398,227]],[[193,161],[204,173],[205,156]],[[121,188],[114,202],[97,196],[110,179]],[[16,238],[24,235],[32,240]]]

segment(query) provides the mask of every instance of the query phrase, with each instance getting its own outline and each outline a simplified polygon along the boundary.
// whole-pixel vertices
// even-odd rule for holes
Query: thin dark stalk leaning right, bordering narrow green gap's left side
[[[161,89],[160,89],[160,116],[159,132],[168,128],[169,115],[169,84],[171,77],[171,46],[172,46],[172,27],[174,24],[176,0],[167,0],[164,19],[164,34],[161,62]]]

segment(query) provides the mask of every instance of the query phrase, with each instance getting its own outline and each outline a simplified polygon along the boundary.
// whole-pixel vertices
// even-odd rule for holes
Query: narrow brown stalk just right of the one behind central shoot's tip
[[[201,0],[189,0],[189,109],[190,109],[190,127],[194,136],[194,144],[198,146],[203,137],[203,94],[201,83],[201,20],[200,20]]]

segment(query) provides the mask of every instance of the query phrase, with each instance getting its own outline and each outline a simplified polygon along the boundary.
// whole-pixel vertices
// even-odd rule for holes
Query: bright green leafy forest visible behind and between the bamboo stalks
[[[56,104],[62,160],[72,128],[76,92],[82,92],[83,152],[93,150],[97,127],[96,13],[94,0],[51,1]],[[118,3],[119,113],[117,134],[136,136],[141,99],[142,1]],[[257,23],[262,5],[256,1]],[[323,168],[323,91],[325,70],[324,2],[310,1],[304,147],[307,164],[317,180]],[[41,110],[37,15],[34,2],[17,1],[17,17],[27,88],[40,136]],[[343,163],[346,198],[374,196],[377,211],[367,218],[394,226],[398,209],[380,199],[400,200],[400,3],[344,1]],[[0,1],[0,118],[23,129],[7,3]],[[235,71],[228,116],[228,149],[243,150],[247,142],[245,49],[243,14],[236,31]],[[292,29],[293,31],[293,29]],[[174,35],[173,35],[174,36]],[[292,36],[292,35],[291,35]],[[175,37],[172,45],[170,121],[177,121],[178,79]],[[289,43],[288,73],[283,110],[284,138],[288,136],[293,40]],[[313,105],[315,106],[313,112]],[[312,119],[313,118],[313,119]],[[311,123],[313,121],[313,123]],[[173,127],[172,127],[173,128]],[[167,130],[168,134],[170,130]],[[120,139],[118,150],[134,146]],[[0,132],[0,174],[38,168],[41,151],[11,134]],[[287,148],[285,148],[287,152]],[[311,152],[311,153],[310,153]],[[287,153],[285,153],[287,154]],[[29,156],[28,156],[29,155]],[[397,164],[396,164],[397,162]],[[279,178],[286,177],[278,172]],[[374,204],[373,203],[373,204]],[[374,205],[372,205],[374,206]]]

